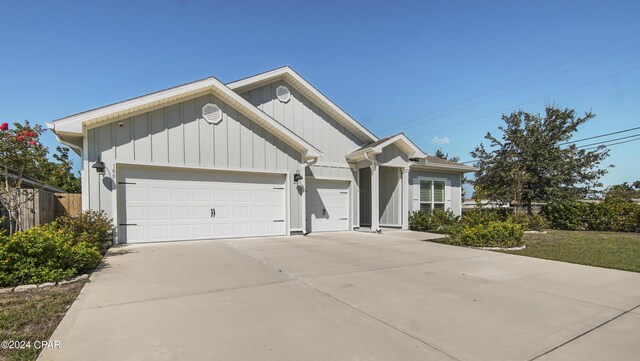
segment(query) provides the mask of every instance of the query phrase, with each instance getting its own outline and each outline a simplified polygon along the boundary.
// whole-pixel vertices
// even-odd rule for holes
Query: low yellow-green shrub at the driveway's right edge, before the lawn
[[[518,247],[523,245],[522,226],[511,221],[465,226],[455,237],[457,244],[471,247]]]

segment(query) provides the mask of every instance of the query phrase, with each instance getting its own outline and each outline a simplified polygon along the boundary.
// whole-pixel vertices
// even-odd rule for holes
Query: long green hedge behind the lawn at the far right
[[[541,213],[555,229],[640,232],[640,205],[624,200],[553,202]]]

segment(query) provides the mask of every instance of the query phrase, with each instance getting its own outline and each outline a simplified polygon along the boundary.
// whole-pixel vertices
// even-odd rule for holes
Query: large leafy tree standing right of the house
[[[478,196],[524,207],[533,202],[580,199],[593,195],[607,173],[601,167],[609,155],[604,146],[581,149],[570,142],[578,127],[593,113],[549,105],[544,116],[522,110],[503,115],[502,132],[487,133],[489,148],[480,143],[471,155],[477,159],[474,187]]]

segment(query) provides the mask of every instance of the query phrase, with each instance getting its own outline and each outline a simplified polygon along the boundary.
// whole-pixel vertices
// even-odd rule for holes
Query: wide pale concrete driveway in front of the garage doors
[[[640,274],[389,231],[112,249],[42,360],[637,360]]]

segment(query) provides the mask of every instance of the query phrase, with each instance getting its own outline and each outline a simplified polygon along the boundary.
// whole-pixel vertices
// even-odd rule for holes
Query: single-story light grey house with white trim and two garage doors
[[[290,67],[214,77],[48,123],[82,157],[82,205],[117,243],[408,228],[461,212],[473,167],[383,139]]]

